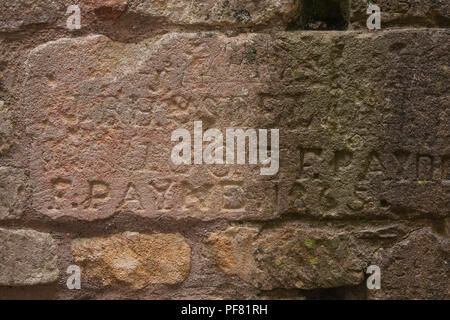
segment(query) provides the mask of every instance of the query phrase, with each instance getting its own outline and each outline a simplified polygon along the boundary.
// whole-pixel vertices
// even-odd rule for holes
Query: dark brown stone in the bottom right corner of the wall
[[[371,264],[381,270],[381,289],[369,299],[450,298],[450,241],[421,229],[388,249],[377,251]]]

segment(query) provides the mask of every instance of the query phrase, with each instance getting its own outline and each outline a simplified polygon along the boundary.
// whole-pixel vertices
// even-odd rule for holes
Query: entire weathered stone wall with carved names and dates
[[[372,3],[0,1],[0,298],[449,299],[450,3]],[[194,121],[278,173],[174,165]]]

